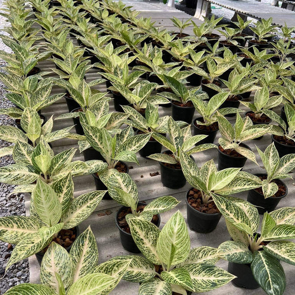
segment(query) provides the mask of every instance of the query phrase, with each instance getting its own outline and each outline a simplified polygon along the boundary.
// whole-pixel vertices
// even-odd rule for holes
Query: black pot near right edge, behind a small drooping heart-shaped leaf
[[[256,176],[266,176],[266,174],[255,174]],[[279,179],[276,179],[279,182],[281,182],[281,184],[283,184],[286,188],[286,193],[283,196],[280,197],[269,197],[267,199],[265,199],[264,195],[261,194],[260,192],[258,192],[255,189],[251,189],[248,191],[248,196],[247,196],[247,201],[250,202],[251,204],[258,206],[258,212],[259,214],[264,214],[265,212],[271,212],[275,209],[275,207],[277,207],[277,205],[279,204],[279,202],[281,201],[281,199],[285,198],[288,194],[288,187],[287,185]]]

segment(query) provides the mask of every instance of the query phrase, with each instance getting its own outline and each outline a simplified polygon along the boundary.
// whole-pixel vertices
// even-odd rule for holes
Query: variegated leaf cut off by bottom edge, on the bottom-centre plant
[[[153,278],[140,285],[138,295],[172,295],[172,289],[169,283]]]

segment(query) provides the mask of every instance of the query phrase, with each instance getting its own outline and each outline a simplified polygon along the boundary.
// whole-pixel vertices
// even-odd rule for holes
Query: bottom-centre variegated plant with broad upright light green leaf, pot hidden
[[[213,265],[218,260],[214,250],[209,247],[190,249],[186,223],[179,211],[172,215],[161,231],[143,218],[129,214],[126,219],[136,245],[145,256],[143,268],[152,270],[152,276],[123,278],[141,282],[139,295],[206,292],[227,284],[235,277]]]

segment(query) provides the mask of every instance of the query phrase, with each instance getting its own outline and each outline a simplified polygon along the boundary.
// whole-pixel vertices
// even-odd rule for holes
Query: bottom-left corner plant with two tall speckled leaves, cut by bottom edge
[[[5,294],[74,295],[83,292],[109,294],[119,283],[133,261],[113,258],[98,265],[98,248],[90,227],[73,242],[68,253],[52,242],[41,264],[41,284],[21,284]],[[107,266],[107,267],[106,267]]]

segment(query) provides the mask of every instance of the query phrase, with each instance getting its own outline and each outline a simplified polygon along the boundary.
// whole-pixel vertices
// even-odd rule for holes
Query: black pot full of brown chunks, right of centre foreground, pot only
[[[207,234],[215,230],[220,218],[221,213],[205,213],[201,212],[194,207],[192,207],[188,202],[189,192],[193,189],[191,187],[186,193],[186,213],[187,213],[187,223],[189,228],[197,233]]]

